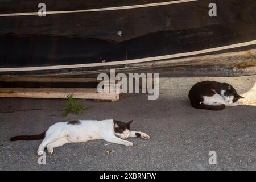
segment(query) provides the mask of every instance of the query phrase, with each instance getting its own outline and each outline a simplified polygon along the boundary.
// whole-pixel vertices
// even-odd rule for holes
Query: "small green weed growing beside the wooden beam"
[[[61,116],[65,117],[69,113],[82,114],[82,111],[85,109],[89,109],[89,107],[77,104],[73,94],[69,93],[67,95],[67,104],[64,107],[64,113]]]

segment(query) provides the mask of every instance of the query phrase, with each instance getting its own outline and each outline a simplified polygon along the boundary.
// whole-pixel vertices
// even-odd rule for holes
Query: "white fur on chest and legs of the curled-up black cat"
[[[234,102],[233,99],[234,96],[225,96],[225,90],[221,90],[221,95],[216,93],[215,90],[213,90],[215,94],[213,96],[204,96],[204,101],[200,102],[200,104],[205,104],[205,105],[226,105],[226,106],[237,106],[237,105],[242,105],[242,102]]]

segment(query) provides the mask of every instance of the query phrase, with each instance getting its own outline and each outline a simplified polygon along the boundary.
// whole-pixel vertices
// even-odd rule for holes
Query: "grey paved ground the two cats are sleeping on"
[[[193,109],[189,88],[197,81],[230,82],[246,98],[243,106],[222,111]],[[1,98],[1,170],[255,170],[256,76],[226,78],[161,78],[158,100],[129,94],[119,102],[80,100],[89,106],[82,115],[63,112],[64,100]],[[38,164],[38,141],[10,142],[20,134],[38,134],[55,122],[69,119],[133,119],[132,129],[150,140],[129,139],[134,147],[94,140],[66,144]],[[106,154],[114,150],[113,154]],[[209,151],[217,152],[217,165],[209,165]]]

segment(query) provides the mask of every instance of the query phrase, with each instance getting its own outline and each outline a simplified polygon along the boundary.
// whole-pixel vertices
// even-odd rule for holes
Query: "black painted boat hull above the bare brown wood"
[[[46,1],[47,11],[163,1],[82,2],[55,1],[58,5],[55,6],[55,3]],[[217,17],[208,15],[208,5],[212,2],[217,5]],[[39,1],[23,3],[27,6],[3,3],[1,14],[38,10]],[[225,46],[230,45],[234,49],[241,48],[243,43],[254,48],[255,9],[256,2],[250,0],[204,0],[120,10],[56,13],[46,17],[0,16],[3,24],[0,27],[0,74],[89,72],[106,66],[121,68],[125,64],[147,60],[198,56],[204,54],[204,50],[217,52],[213,48],[229,50]]]

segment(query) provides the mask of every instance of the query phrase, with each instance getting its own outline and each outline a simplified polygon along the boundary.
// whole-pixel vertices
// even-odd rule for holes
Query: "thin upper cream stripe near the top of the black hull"
[[[104,7],[104,8],[89,9],[89,10],[46,11],[46,14],[48,15],[48,14],[64,14],[64,13],[82,13],[82,12],[93,12],[93,11],[126,10],[126,9],[135,9],[135,8],[141,8],[141,7],[171,5],[176,3],[192,2],[192,1],[197,1],[197,0],[178,0],[178,1],[169,1],[169,2],[150,3],[150,4],[144,4],[144,5]],[[28,16],[28,15],[38,15],[38,12],[0,14],[0,16]]]

